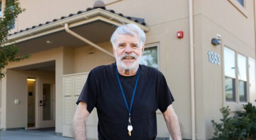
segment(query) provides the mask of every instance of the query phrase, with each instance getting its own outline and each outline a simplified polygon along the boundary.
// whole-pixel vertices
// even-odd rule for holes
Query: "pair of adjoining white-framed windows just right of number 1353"
[[[224,47],[224,71],[226,102],[247,102],[247,58]]]

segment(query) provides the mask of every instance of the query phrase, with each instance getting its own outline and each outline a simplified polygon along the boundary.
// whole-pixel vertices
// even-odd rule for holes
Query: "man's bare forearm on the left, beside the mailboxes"
[[[86,121],[89,114],[87,103],[80,101],[73,118],[73,135],[75,139],[86,139]]]

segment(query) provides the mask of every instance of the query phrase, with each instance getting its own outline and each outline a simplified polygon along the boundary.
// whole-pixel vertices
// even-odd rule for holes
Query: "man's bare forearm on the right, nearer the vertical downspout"
[[[169,133],[170,135],[172,135],[172,138],[174,140],[181,139],[178,117],[174,111],[172,104],[167,107],[166,111],[163,113],[163,117],[169,130]]]

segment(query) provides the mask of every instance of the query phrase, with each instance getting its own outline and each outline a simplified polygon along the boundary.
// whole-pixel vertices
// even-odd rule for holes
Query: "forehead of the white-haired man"
[[[116,43],[139,43],[139,37],[137,34],[134,35],[123,35],[117,34],[116,35]]]

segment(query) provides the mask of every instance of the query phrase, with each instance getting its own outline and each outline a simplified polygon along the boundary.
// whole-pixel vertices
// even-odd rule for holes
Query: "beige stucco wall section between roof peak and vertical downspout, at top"
[[[148,26],[163,24],[188,17],[188,1],[119,1],[106,6],[116,13],[144,18]],[[132,10],[131,10],[132,9]]]

